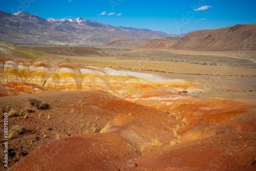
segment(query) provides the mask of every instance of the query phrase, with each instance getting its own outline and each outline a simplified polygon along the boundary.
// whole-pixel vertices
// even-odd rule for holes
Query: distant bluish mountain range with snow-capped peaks
[[[112,38],[152,39],[177,36],[160,31],[116,27],[82,17],[41,18],[25,11],[14,14],[0,10],[0,40],[15,45],[99,45]]]

